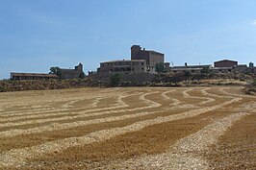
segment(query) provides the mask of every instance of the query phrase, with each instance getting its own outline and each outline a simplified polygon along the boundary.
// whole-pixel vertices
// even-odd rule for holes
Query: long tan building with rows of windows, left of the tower
[[[145,73],[145,60],[122,60],[101,62],[98,73]]]

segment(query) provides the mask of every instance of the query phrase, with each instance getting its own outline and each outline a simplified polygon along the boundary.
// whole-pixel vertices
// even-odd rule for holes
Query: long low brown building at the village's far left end
[[[22,81],[22,80],[51,80],[57,79],[55,74],[43,74],[43,73],[11,73],[11,80]]]

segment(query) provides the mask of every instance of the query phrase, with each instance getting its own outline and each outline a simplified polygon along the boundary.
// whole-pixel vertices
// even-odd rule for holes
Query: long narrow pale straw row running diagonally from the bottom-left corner
[[[92,142],[104,141],[119,134],[140,131],[141,129],[147,126],[152,126],[152,125],[161,124],[169,121],[196,116],[207,111],[220,109],[226,105],[232,104],[234,102],[238,102],[240,100],[241,98],[235,98],[231,101],[224,102],[215,107],[209,107],[209,108],[203,108],[203,109],[192,109],[180,114],[157,117],[155,119],[137,122],[122,128],[114,128],[110,130],[98,131],[98,132],[87,134],[85,136],[80,136],[80,137],[65,138],[63,140],[47,142],[42,145],[33,146],[31,148],[16,149],[16,150],[2,153],[0,158],[2,159],[1,161],[4,166],[18,166],[26,163],[26,159],[28,158],[38,157],[38,156],[41,156],[42,154],[61,152],[62,150],[65,150],[69,147],[85,145]]]

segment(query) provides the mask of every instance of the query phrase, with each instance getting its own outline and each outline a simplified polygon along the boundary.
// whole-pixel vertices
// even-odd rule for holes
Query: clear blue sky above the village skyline
[[[256,0],[0,0],[0,79],[96,70],[139,44],[174,65],[256,62]]]

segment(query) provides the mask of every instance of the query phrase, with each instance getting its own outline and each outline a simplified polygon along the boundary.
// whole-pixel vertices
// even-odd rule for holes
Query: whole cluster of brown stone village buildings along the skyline
[[[51,80],[51,79],[78,79],[85,78],[83,64],[79,63],[74,69],[51,67],[51,72],[46,73],[11,73],[11,80]],[[222,60],[212,64],[190,65],[185,62],[182,66],[170,66],[170,62],[165,61],[165,54],[154,50],[146,50],[140,45],[131,47],[131,60],[116,60],[100,62],[97,71],[91,71],[88,77],[92,79],[107,79],[110,75],[120,73],[123,75],[136,75],[134,79],[141,77],[152,77],[157,73],[248,73],[256,74],[256,67],[253,62],[241,64],[238,61]]]

